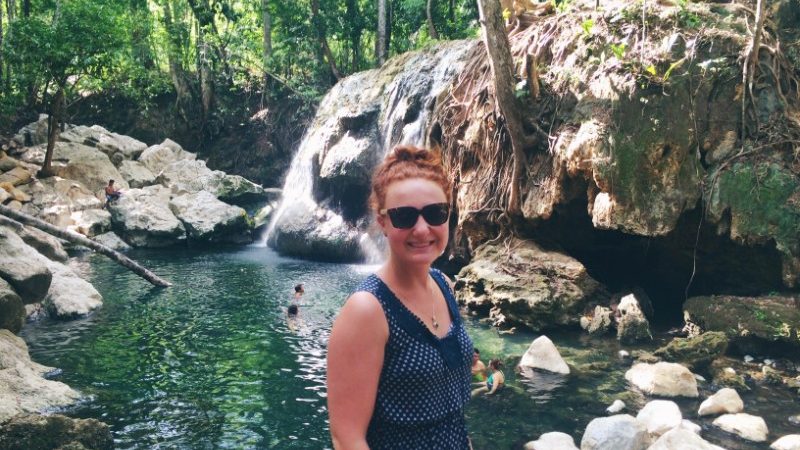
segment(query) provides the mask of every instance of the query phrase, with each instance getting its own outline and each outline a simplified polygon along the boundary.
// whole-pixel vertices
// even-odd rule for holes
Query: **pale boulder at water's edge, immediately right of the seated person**
[[[111,220],[134,247],[168,247],[186,239],[183,223],[169,209],[170,193],[163,186],[130,189],[109,204]]]

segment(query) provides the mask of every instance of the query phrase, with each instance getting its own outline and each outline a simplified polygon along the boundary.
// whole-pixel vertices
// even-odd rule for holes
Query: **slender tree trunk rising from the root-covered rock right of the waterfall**
[[[478,0],[478,12],[483,27],[483,43],[489,55],[489,67],[494,78],[495,100],[500,114],[505,119],[514,155],[508,212],[517,215],[521,211],[520,184],[522,184],[523,168],[526,165],[523,148],[526,136],[520,109],[514,96],[516,84],[513,75],[514,61],[498,0]]]

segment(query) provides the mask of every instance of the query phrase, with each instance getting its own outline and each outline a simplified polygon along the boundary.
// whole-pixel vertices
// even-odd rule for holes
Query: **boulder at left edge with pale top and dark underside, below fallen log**
[[[0,226],[0,278],[6,280],[24,303],[42,301],[53,274],[49,260],[10,228]]]

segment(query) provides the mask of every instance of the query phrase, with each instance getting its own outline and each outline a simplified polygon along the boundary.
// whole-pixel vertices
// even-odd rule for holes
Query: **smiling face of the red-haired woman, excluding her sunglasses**
[[[435,203],[446,203],[442,188],[424,178],[396,181],[386,190],[383,208],[411,206],[417,209]],[[411,228],[396,228],[387,214],[378,215],[378,224],[389,241],[392,256],[407,264],[430,265],[447,247],[448,221],[429,224],[422,215]]]

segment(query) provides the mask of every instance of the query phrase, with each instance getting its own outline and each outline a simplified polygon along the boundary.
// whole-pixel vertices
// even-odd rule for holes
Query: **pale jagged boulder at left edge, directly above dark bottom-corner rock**
[[[42,376],[52,367],[31,361],[28,346],[8,330],[0,330],[0,423],[22,413],[68,406],[80,395]]]

